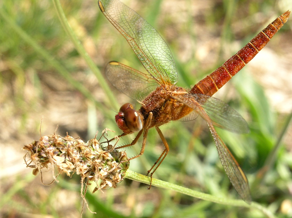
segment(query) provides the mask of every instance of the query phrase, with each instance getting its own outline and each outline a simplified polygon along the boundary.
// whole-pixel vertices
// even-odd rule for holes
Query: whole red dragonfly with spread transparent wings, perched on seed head
[[[175,86],[178,77],[171,51],[159,33],[146,20],[118,0],[100,0],[99,7],[106,18],[127,39],[147,71],[147,73],[139,72],[115,61],[106,66],[105,74],[113,86],[129,97],[139,99],[142,105],[139,110],[135,110],[132,104],[125,103],[115,116],[118,127],[123,131],[119,137],[138,132],[131,144],[118,148],[134,145],[143,134],[139,155],[129,160],[141,156],[144,153],[148,129],[155,127],[165,149],[148,170],[147,175],[154,169],[150,174],[152,181],[153,173],[169,151],[159,126],[171,120],[194,120],[200,115],[209,126],[231,184],[240,197],[250,203],[248,180],[214,128],[218,126],[232,132],[247,133],[248,125],[235,110],[211,96],[255,57],[286,23],[290,11],[270,23],[239,52],[198,82],[191,90],[186,90]]]

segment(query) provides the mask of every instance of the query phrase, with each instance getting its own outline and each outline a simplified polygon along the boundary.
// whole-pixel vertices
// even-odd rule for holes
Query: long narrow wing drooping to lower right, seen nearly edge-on
[[[220,158],[220,161],[222,163],[222,166],[237,193],[240,195],[240,197],[245,200],[247,203],[251,203],[251,195],[250,195],[250,189],[248,186],[248,180],[246,178],[246,175],[242,171],[241,167],[227,148],[227,146],[224,144],[224,142],[220,139],[218,136],[212,121],[210,117],[208,116],[207,112],[204,110],[202,105],[200,105],[194,98],[193,94],[185,94],[185,95],[174,95],[172,98],[184,103],[185,105],[189,106],[190,108],[193,108],[198,112],[198,114],[203,117],[204,120],[206,120],[210,132],[213,136],[213,139],[215,141],[215,145],[217,148],[217,152]]]

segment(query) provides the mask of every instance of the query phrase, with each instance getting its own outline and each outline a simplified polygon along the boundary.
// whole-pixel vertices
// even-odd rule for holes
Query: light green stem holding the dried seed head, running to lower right
[[[135,181],[139,181],[145,184],[150,184],[150,177],[144,176],[139,173],[135,173],[131,170],[127,170],[125,178],[132,179]],[[274,214],[270,212],[267,208],[263,207],[262,205],[252,202],[251,204],[246,203],[243,200],[233,200],[233,199],[226,199],[226,198],[220,198],[216,197],[214,195],[202,193],[199,191],[195,191],[189,188],[185,188],[182,186],[178,186],[169,182],[165,182],[159,179],[152,179],[152,186],[157,186],[160,188],[165,188],[172,191],[177,191],[179,193],[189,195],[195,198],[199,198],[202,200],[212,201],[214,203],[218,204],[224,204],[229,206],[235,206],[235,207],[247,207],[247,208],[256,208],[260,210],[262,213],[264,213],[269,218],[274,218]]]

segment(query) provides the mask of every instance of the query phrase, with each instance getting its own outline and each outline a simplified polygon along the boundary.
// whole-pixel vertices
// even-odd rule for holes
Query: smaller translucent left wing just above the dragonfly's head
[[[116,61],[106,65],[105,74],[113,86],[134,100],[141,100],[159,86],[149,74]]]

